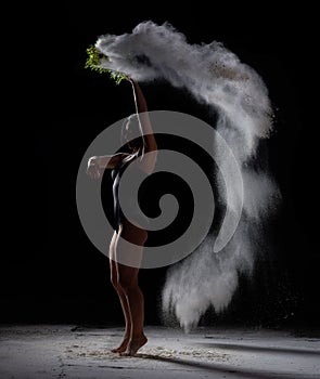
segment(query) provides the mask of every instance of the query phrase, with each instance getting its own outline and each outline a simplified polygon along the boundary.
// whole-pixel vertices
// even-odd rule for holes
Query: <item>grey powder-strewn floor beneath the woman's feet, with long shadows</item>
[[[320,378],[319,334],[146,326],[135,357],[110,352],[123,328],[0,326],[0,378]]]

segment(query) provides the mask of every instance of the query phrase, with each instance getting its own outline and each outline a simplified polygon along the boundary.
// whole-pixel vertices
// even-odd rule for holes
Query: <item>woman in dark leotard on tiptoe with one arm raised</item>
[[[120,355],[135,355],[137,351],[146,343],[148,339],[143,332],[144,323],[144,299],[138,285],[139,269],[124,265],[117,262],[116,257],[120,253],[136,254],[141,260],[143,245],[148,238],[148,232],[139,227],[137,220],[127,220],[120,210],[118,201],[118,184],[123,171],[131,164],[135,169],[142,170],[145,174],[153,171],[156,159],[156,141],[152,131],[148,107],[139,84],[129,79],[133,89],[133,97],[137,110],[137,119],[141,128],[141,138],[129,140],[131,118],[126,123],[124,138],[128,142],[129,153],[118,153],[113,156],[91,157],[88,161],[87,173],[94,179],[101,177],[103,169],[113,170],[113,195],[115,206],[115,232],[110,244],[110,267],[111,282],[118,293],[125,322],[125,336],[118,348],[112,352]],[[146,154],[151,153],[153,154]],[[135,244],[132,251],[124,251],[120,237]],[[139,266],[139,264],[138,264]]]

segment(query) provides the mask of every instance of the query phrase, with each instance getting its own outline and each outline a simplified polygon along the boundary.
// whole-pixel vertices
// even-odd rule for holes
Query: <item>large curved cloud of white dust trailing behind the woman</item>
[[[208,234],[191,256],[168,269],[163,311],[189,329],[209,306],[217,313],[228,306],[239,274],[249,274],[254,267],[257,246],[264,238],[261,225],[280,198],[268,171],[253,165],[259,161],[260,140],[269,138],[273,128],[268,89],[261,77],[222,43],[189,44],[185,36],[167,23],[143,22],[131,34],[101,36],[95,45],[107,56],[102,67],[124,71],[138,81],[164,78],[212,106],[218,116],[214,128],[232,149],[242,172],[243,212],[230,243],[214,253],[215,236]],[[219,147],[217,144],[213,149],[219,152]],[[223,168],[231,177],[229,171]],[[223,199],[223,178],[217,175],[216,180]],[[228,191],[232,211],[241,200],[240,188]]]

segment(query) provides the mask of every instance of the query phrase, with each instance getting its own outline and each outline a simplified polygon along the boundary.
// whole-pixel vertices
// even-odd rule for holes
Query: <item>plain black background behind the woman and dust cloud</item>
[[[201,323],[319,327],[315,11],[292,5],[280,10],[271,3],[259,9],[208,4],[174,11],[163,2],[149,8],[66,1],[28,10],[31,16],[18,24],[15,61],[20,66],[23,60],[25,69],[13,75],[18,80],[11,86],[11,125],[22,147],[14,145],[16,181],[5,182],[17,207],[10,244],[1,254],[0,322],[123,323],[107,259],[80,225],[75,182],[89,143],[107,125],[131,114],[133,101],[128,83],[116,86],[84,65],[87,47],[100,35],[131,32],[138,23],[152,19],[171,23],[190,43],[223,42],[261,75],[276,109],[277,132],[268,151],[283,201],[272,220],[272,253],[257,261],[252,277],[241,278],[223,314],[212,310]],[[141,86],[151,110],[207,117],[207,109],[182,90],[165,82]],[[140,273],[146,324],[163,322],[165,274],[166,267]]]

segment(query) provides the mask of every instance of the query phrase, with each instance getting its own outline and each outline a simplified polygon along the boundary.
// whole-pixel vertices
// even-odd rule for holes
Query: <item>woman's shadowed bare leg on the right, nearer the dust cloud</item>
[[[132,254],[139,262],[142,259],[143,244],[146,240],[146,232],[139,230],[131,224],[124,224],[120,232],[120,236],[132,244],[131,251],[125,251],[125,253]],[[121,239],[117,239],[116,254],[121,253],[123,249]],[[126,247],[127,248],[127,247]],[[135,256],[133,256],[135,254]],[[148,339],[143,332],[144,324],[144,298],[138,284],[138,267],[131,267],[116,262],[118,272],[118,283],[126,295],[130,319],[131,319],[131,335],[130,340],[125,352],[121,355],[135,355],[137,351],[146,343]]]

